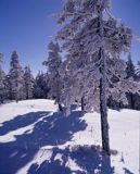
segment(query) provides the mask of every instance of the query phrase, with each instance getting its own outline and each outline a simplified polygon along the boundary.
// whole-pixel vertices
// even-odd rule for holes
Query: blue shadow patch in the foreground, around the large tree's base
[[[61,154],[61,159],[56,156]],[[73,160],[79,169],[69,166],[69,159]],[[72,164],[73,165],[73,164]],[[97,147],[79,147],[76,149],[64,150],[59,148],[52,149],[52,156],[38,165],[33,164],[28,174],[114,174],[114,167],[111,166],[109,156],[105,156]]]

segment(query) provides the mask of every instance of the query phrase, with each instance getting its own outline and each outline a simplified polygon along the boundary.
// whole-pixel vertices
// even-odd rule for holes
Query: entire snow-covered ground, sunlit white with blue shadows
[[[109,110],[109,158],[98,113],[56,110],[51,100],[0,107],[0,174],[139,174],[139,111]]]

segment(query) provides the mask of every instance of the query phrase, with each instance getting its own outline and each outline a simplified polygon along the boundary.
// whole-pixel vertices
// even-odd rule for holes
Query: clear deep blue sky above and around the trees
[[[16,50],[23,66],[33,73],[43,70],[47,46],[59,28],[49,16],[62,9],[63,0],[0,0],[0,52],[8,72],[10,57]],[[140,36],[140,0],[112,0],[112,13]],[[140,42],[132,42],[132,59],[140,60]]]

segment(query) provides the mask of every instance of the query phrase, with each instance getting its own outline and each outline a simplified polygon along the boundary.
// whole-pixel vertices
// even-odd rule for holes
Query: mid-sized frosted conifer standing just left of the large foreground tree
[[[55,99],[55,102],[59,104],[60,111],[62,111],[60,98],[62,90],[62,80],[60,75],[60,69],[62,64],[60,55],[60,46],[58,42],[51,41],[48,46],[49,55],[47,61],[43,62],[43,65],[48,70],[48,86],[50,88],[50,96],[52,99]]]

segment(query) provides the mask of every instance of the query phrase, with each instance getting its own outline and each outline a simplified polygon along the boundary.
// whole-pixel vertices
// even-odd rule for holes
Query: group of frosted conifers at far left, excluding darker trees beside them
[[[10,62],[10,71],[5,74],[0,65],[0,101],[30,99],[34,95],[34,77],[29,66],[25,70],[20,64],[16,51],[13,51]]]

